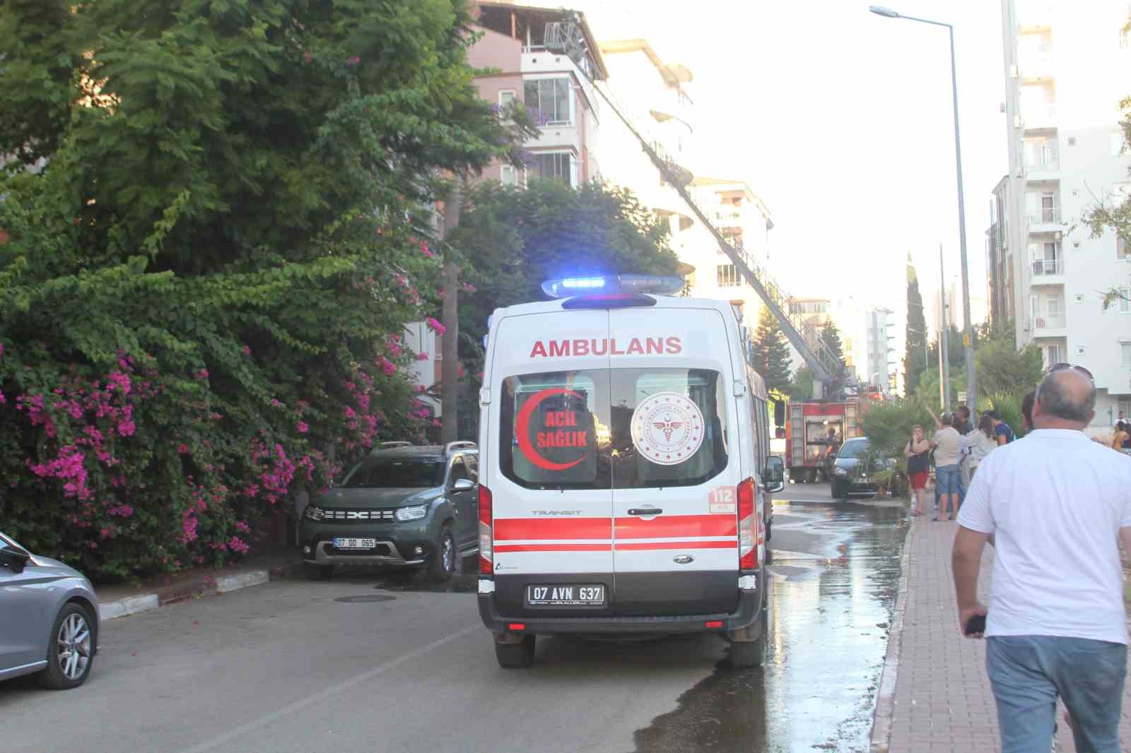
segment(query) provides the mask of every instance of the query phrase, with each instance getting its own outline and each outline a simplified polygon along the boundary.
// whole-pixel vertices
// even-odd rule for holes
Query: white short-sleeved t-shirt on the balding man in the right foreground
[[[1034,431],[982,460],[958,525],[995,536],[986,635],[1128,642],[1131,457],[1083,432]]]

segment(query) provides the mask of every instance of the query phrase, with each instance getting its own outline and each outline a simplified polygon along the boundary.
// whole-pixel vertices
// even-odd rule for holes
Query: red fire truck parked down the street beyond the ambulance
[[[837,448],[846,439],[864,435],[860,416],[866,409],[867,400],[857,397],[843,403],[791,401],[785,425],[789,478],[802,484],[828,481]]]

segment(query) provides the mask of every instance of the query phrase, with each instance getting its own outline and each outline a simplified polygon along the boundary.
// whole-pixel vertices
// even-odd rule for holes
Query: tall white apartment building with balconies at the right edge
[[[1011,318],[1019,345],[1045,365],[1095,375],[1095,425],[1131,414],[1131,249],[1111,231],[1093,239],[1080,218],[1097,200],[1131,193],[1117,103],[1131,94],[1126,0],[1002,0],[1009,174],[994,190],[987,262],[993,315]]]

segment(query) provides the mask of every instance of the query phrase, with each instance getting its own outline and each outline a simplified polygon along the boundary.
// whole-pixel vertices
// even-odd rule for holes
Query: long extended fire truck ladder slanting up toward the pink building
[[[627,114],[629,112],[628,109],[608,89],[607,84],[596,80],[593,84],[594,88],[601,93],[601,96],[608,103],[608,106],[616,113],[616,116],[621,119],[621,122],[624,123],[624,127],[640,142],[640,147],[651,159],[653,164],[656,165],[656,168],[659,170],[659,174],[676,190],[688,207],[691,208],[691,211],[699,218],[699,222],[710,231],[718,243],[718,248],[731,259],[734,268],[742,275],[742,278],[754,288],[762,302],[766,303],[782,326],[782,331],[785,332],[786,339],[797,349],[797,353],[801,354],[801,357],[805,360],[805,363],[813,371],[814,379],[820,382],[831,381],[832,375],[840,370],[840,361],[836,354],[824,345],[821,338],[817,338],[815,352],[805,341],[805,337],[802,335],[805,328],[804,319],[800,313],[791,313],[789,296],[774,282],[769,272],[750,257],[741,244],[735,248],[727,240],[718,226],[711,222],[707,210],[700,207],[699,202],[691,196],[691,192],[688,190],[688,185],[690,185],[692,179],[691,172],[679,165],[664,147],[661,146],[659,141],[648,138],[633,124]]]

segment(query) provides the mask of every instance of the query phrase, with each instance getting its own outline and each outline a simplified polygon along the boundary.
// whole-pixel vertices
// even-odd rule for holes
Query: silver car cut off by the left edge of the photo
[[[97,650],[90,581],[0,533],[0,680],[38,673],[45,687],[78,687]]]

